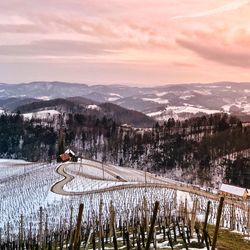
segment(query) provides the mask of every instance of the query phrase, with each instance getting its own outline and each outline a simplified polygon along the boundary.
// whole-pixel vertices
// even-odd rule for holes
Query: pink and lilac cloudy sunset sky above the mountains
[[[0,82],[250,82],[250,0],[0,1]]]

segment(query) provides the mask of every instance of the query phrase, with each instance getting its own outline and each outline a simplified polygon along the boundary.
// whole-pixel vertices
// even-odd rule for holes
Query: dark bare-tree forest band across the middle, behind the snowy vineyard
[[[64,134],[65,148],[87,158],[147,167],[191,183],[216,185],[223,179],[249,187],[250,127],[243,127],[237,118],[227,114],[184,122],[169,119],[151,129],[121,126],[106,116],[71,114],[60,123],[46,124],[23,120],[19,114],[2,114],[1,157],[55,158],[59,129]]]

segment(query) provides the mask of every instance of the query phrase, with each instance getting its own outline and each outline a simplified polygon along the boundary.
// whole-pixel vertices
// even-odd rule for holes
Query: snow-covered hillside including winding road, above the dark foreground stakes
[[[159,204],[159,221],[166,218],[166,213],[171,218],[184,213],[185,204],[187,218],[190,218],[189,214],[194,214],[193,220],[200,223],[204,221],[208,200],[212,200],[208,223],[215,224],[216,221],[216,194],[150,173],[146,173],[145,185],[145,173],[139,170],[133,170],[131,173],[127,168],[103,166],[100,162],[90,160],[59,166],[3,160],[0,161],[0,171],[4,172],[0,176],[0,228],[3,232],[1,240],[8,239],[9,235],[13,239],[17,238],[20,228],[23,228],[25,233],[37,235],[41,225],[42,229],[46,228],[52,233],[58,229],[67,231],[72,227],[72,223],[76,223],[80,203],[84,204],[84,223],[97,218],[100,214],[100,203],[102,219],[104,222],[109,221],[110,207],[113,206],[118,227],[119,221],[124,222],[140,213],[142,204],[147,209],[145,211],[149,220],[156,201]],[[117,178],[118,176],[120,178]],[[197,210],[192,212],[194,206]],[[247,218],[247,210],[244,209],[243,203],[237,201],[234,208],[232,201],[228,201],[224,204],[224,211],[223,227],[246,232],[243,218]],[[232,213],[235,215],[233,226]],[[162,233],[157,236],[157,240],[163,239]],[[195,235],[190,235],[190,238],[197,241]],[[159,248],[169,247],[166,239],[155,244]]]

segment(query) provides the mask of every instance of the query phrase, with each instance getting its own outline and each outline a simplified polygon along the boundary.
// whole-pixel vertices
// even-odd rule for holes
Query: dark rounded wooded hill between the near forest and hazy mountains
[[[84,114],[85,116],[102,119],[103,116],[110,118],[119,124],[129,124],[133,127],[152,127],[155,120],[141,112],[130,110],[113,103],[98,103],[83,97],[72,97],[68,99],[57,98],[53,100],[36,100],[16,107],[15,111],[21,113],[34,113],[46,111],[48,109],[57,110],[61,115],[67,117],[74,114]]]

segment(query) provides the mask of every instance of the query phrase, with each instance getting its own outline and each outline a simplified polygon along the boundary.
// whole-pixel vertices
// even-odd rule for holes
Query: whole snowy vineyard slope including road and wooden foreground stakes
[[[90,160],[61,165],[2,160],[0,171],[2,249],[210,249],[213,244],[207,224],[218,220],[217,194]],[[225,199],[221,208],[220,226],[241,233],[247,244],[250,204]]]

